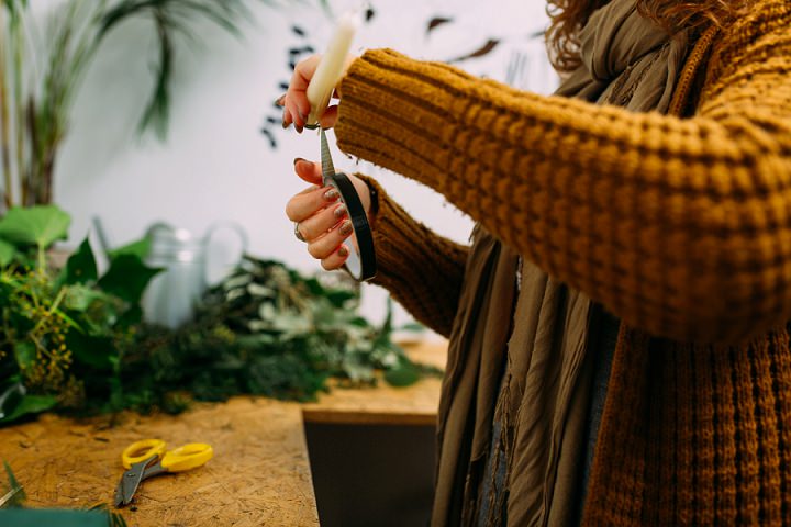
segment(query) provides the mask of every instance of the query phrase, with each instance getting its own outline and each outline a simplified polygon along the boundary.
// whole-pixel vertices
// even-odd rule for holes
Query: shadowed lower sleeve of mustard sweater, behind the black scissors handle
[[[372,283],[389,290],[416,321],[448,337],[468,247],[415,221],[372,178],[356,176],[376,191],[378,200],[371,224],[378,269]]]

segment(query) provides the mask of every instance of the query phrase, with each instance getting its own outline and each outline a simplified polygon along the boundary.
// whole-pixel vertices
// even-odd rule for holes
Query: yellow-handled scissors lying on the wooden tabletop
[[[115,506],[129,505],[143,480],[165,472],[185,472],[202,467],[214,455],[211,445],[190,442],[175,450],[166,450],[161,439],[135,441],[121,453],[127,469],[115,490]]]

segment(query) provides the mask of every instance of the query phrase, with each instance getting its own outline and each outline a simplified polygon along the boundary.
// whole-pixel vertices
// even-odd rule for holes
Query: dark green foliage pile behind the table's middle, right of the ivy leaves
[[[260,394],[309,401],[334,377],[374,384],[376,370],[408,385],[439,370],[414,365],[391,340],[388,316],[359,316],[359,292],[342,274],[303,277],[280,262],[246,257],[176,332],[144,327],[124,354],[130,406],[179,412],[191,399]]]

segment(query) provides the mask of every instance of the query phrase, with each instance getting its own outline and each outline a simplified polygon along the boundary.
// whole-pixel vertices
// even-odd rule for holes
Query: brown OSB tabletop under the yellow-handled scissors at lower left
[[[125,414],[76,422],[43,415],[0,429],[0,458],[9,461],[34,507],[77,508],[111,503],[123,473],[121,451],[149,437],[175,448],[209,442],[201,468],[144,481],[123,509],[134,526],[316,526],[300,407],[237,397],[179,416]]]

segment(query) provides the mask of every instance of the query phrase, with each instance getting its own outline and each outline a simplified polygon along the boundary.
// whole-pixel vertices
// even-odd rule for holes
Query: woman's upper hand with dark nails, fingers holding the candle
[[[343,78],[348,70],[348,67],[357,58],[354,55],[348,55],[344,63],[344,72],[341,76]],[[292,123],[297,132],[302,132],[305,125],[305,120],[310,115],[311,104],[308,100],[308,86],[310,85],[313,75],[315,74],[321,55],[311,55],[308,58],[300,60],[294,67],[294,72],[291,76],[291,82],[289,89],[283,97],[278,99],[278,104],[283,106],[283,128],[288,128]],[[334,92],[334,97],[339,99],[337,89]],[[337,105],[328,106],[321,115],[319,122],[323,128],[332,128],[337,120]]]

